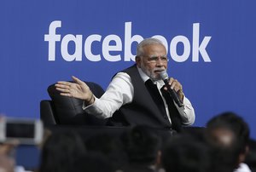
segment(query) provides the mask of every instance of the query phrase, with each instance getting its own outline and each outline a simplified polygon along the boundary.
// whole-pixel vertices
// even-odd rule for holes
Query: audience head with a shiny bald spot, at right
[[[224,112],[207,123],[206,140],[218,171],[233,171],[245,159],[249,129],[247,123],[233,112]]]

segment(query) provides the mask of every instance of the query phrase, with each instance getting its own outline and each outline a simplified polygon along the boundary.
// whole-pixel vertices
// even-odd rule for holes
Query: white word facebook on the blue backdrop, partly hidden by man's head
[[[115,61],[131,61],[135,60],[135,54],[131,52],[132,43],[140,43],[143,41],[141,35],[131,35],[132,23],[125,22],[125,34],[122,42],[121,37],[115,34],[110,34],[106,37],[102,37],[100,34],[91,34],[88,37],[83,37],[81,34],[73,35],[67,34],[62,36],[57,34],[61,29],[61,20],[54,20],[49,24],[49,33],[44,35],[44,41],[48,42],[48,60],[56,60],[56,45],[61,48],[61,57],[66,61],[82,61],[83,54],[87,60],[90,61],[101,61],[108,60],[111,62]],[[200,23],[194,23],[192,28],[192,40],[183,35],[177,35],[172,37],[170,43],[168,43],[166,37],[161,35],[154,35],[152,37],[160,39],[162,43],[166,46],[167,54],[170,51],[169,56],[172,60],[176,62],[184,62],[186,60],[191,60],[192,62],[198,62],[200,60],[204,62],[211,62],[209,54],[207,53],[207,45],[212,37],[205,36],[200,42]],[[68,49],[69,43],[73,43],[73,52]],[[102,52],[92,52],[92,46],[94,43],[100,43]],[[178,43],[183,45],[182,53],[177,52]],[[123,52],[123,58],[121,53]],[[200,55],[201,54],[201,55]],[[191,55],[191,57],[190,57]],[[190,57],[190,58],[189,58]],[[84,59],[85,60],[85,59]]]

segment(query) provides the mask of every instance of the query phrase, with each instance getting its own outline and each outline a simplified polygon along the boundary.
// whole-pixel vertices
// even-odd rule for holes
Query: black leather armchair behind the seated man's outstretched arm
[[[104,90],[97,83],[86,83],[92,93],[97,97],[101,97]],[[55,89],[55,83],[49,85],[48,94],[51,100],[41,100],[40,102],[40,118],[44,125],[55,124],[80,124],[80,125],[105,125],[107,120],[96,118],[93,115],[83,111],[83,100],[73,97],[60,95]]]

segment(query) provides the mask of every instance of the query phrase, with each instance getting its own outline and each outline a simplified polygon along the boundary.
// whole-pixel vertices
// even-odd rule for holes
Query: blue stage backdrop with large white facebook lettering
[[[169,76],[195,107],[195,126],[240,114],[256,138],[255,1],[3,0],[0,112],[39,118],[47,87],[71,76],[107,89],[137,43],[166,44]]]

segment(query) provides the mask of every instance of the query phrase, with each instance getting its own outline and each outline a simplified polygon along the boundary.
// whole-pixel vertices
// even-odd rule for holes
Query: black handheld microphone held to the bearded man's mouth
[[[175,101],[177,106],[179,106],[179,107],[184,106],[183,103],[181,102],[181,100],[179,100],[176,91],[174,89],[171,89],[171,87],[169,85],[169,77],[168,77],[166,70],[160,72],[160,77],[166,83],[167,91],[172,96],[172,99]]]

